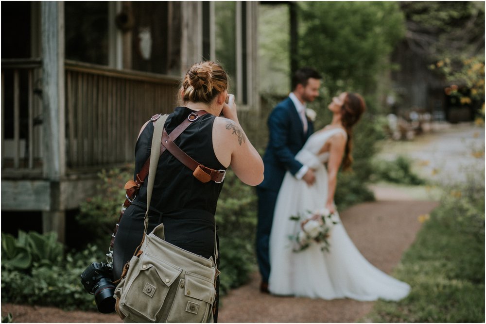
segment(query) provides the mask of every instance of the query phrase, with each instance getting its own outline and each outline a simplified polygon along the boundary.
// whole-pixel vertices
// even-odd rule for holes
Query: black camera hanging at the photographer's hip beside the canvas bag
[[[94,295],[98,311],[104,314],[115,311],[115,285],[111,270],[111,266],[106,263],[93,262],[81,274],[83,287]]]

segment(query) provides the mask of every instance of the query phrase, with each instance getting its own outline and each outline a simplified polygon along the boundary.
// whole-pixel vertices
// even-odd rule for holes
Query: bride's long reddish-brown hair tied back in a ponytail
[[[343,158],[343,170],[350,169],[353,157],[353,126],[358,122],[361,115],[366,110],[366,104],[363,97],[357,93],[348,92],[341,107],[341,123],[347,132],[346,150]]]

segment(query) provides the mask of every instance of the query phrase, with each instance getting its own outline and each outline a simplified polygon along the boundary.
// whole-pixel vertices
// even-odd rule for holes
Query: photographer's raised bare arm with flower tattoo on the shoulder
[[[263,181],[263,161],[238,122],[234,96],[230,95],[223,114],[225,117],[216,117],[213,125],[214,153],[240,180],[256,186]]]

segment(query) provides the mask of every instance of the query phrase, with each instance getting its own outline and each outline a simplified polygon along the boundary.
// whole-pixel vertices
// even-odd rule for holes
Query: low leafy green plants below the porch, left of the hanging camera
[[[100,250],[96,246],[88,246],[81,253],[69,253],[63,258],[63,245],[52,241],[53,237],[53,233],[19,235],[17,243],[40,243],[37,249],[31,251],[32,262],[27,268],[12,266],[8,259],[4,261],[5,253],[2,253],[1,301],[53,305],[66,309],[95,309],[94,297],[84,291],[80,275],[91,262],[101,260]],[[5,249],[4,242],[8,241],[3,240],[2,235],[2,250]],[[54,257],[52,251],[59,254]]]

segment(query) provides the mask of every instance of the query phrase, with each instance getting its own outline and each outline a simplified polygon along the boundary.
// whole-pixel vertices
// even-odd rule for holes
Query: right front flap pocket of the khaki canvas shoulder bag
[[[216,297],[214,281],[190,272],[179,282],[179,288],[168,323],[205,323]]]

